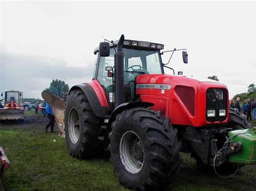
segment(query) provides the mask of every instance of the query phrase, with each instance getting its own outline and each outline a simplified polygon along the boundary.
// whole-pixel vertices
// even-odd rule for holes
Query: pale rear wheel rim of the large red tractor
[[[71,139],[72,143],[77,143],[80,135],[80,123],[79,123],[79,115],[75,108],[72,108],[69,112],[68,116],[68,131],[69,131],[69,138]]]

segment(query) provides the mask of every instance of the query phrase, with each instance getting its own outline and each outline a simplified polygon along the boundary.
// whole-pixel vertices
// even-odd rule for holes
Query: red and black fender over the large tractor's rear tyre
[[[106,94],[97,80],[88,83],[81,83],[73,86],[69,94],[73,90],[81,90],[86,95],[90,107],[97,117],[109,118],[109,105]]]

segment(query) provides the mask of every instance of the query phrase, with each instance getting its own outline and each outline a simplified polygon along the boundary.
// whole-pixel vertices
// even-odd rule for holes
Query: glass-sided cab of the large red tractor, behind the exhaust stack
[[[100,82],[109,97],[109,103],[113,103],[114,95],[114,75],[115,70],[115,52],[117,42],[109,43],[109,56],[100,56],[99,49],[94,50],[98,56],[96,69],[94,70],[94,79]],[[163,63],[160,50],[164,48],[162,44],[125,40],[122,46],[124,54],[123,60],[123,79],[125,101],[134,101],[135,80],[138,75],[143,74],[164,74]]]

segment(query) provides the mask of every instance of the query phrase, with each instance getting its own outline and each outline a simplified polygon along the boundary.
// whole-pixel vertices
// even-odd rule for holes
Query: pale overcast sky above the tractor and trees
[[[189,63],[175,53],[170,66],[186,75],[217,75],[231,96],[256,83],[256,2],[0,3],[1,92],[41,97],[54,78],[70,87],[90,80],[94,48],[122,33],[166,50],[187,48]]]

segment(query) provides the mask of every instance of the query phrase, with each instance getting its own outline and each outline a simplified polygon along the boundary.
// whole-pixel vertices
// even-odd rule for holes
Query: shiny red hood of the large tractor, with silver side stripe
[[[221,108],[225,109],[224,117],[206,117],[209,109],[207,100],[213,99],[208,90],[221,91],[217,96],[223,100]],[[228,89],[225,84],[215,80],[144,74],[136,79],[136,95],[142,101],[154,103],[153,108],[171,118],[172,124],[175,125],[202,127],[225,124],[228,121]]]

